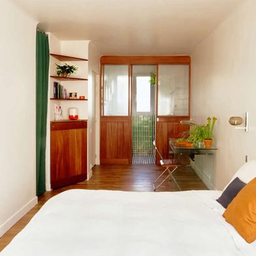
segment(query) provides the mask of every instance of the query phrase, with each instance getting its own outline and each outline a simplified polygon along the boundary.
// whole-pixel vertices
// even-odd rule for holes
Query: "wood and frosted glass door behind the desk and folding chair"
[[[172,158],[169,139],[179,138],[190,118],[190,63],[157,66],[157,120],[155,142],[163,158]],[[159,155],[155,157],[159,163]]]

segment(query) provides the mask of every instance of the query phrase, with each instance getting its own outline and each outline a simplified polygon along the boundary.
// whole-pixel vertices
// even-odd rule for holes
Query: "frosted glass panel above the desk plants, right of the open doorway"
[[[189,114],[189,66],[159,65],[158,115]]]

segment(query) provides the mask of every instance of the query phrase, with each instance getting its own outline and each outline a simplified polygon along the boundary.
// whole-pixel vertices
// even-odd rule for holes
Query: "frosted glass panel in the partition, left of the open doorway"
[[[129,67],[104,66],[104,116],[128,116]]]

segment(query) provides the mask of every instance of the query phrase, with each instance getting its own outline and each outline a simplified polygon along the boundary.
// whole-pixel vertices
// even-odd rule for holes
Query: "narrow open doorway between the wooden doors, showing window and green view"
[[[133,65],[132,69],[133,164],[154,164],[156,65]]]

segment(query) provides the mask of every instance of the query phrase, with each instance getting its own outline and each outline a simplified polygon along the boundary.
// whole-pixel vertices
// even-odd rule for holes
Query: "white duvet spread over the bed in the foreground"
[[[219,195],[65,191],[0,256],[255,256],[255,242],[247,244],[221,216]]]

